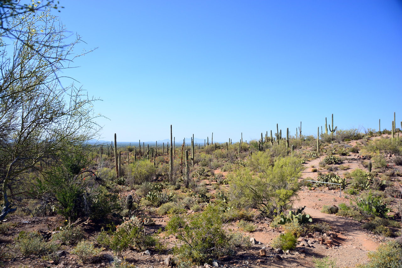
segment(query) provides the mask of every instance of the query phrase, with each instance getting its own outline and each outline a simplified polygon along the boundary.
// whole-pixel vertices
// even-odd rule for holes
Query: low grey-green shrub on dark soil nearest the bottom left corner
[[[57,245],[47,243],[39,233],[21,231],[14,239],[16,256],[21,258],[43,257],[57,250]]]

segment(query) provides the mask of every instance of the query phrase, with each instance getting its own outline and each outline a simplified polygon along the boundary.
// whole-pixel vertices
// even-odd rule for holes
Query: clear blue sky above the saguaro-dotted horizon
[[[101,139],[250,140],[402,121],[402,2],[62,0],[94,52],[65,72],[110,120]],[[275,131],[274,131],[275,130]]]

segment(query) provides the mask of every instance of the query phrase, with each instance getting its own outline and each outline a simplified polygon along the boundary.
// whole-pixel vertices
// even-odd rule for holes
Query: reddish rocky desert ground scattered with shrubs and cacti
[[[198,144],[189,148],[183,144],[172,153],[172,170],[166,148],[162,151],[160,147],[157,153],[152,147],[145,153],[144,148],[141,153],[130,146],[118,148],[115,162],[110,153],[114,148],[110,152],[107,148],[105,153],[105,148],[96,146],[75,176],[75,183],[85,186],[87,191],[83,193],[88,196],[94,194],[93,188],[103,187],[103,194],[108,193],[106,202],[115,202],[116,208],[103,203],[106,211],[97,212],[102,218],[95,222],[90,216],[79,218],[66,212],[58,200],[53,201],[55,208],[33,213],[38,203],[31,200],[25,209],[10,213],[0,225],[3,266],[251,268],[357,267],[370,263],[369,252],[398,241],[401,235],[402,140],[399,129],[394,138],[388,132],[338,130],[320,134],[318,154],[313,136],[287,140],[277,136],[277,142],[268,132],[262,140],[242,144],[202,144],[200,148]],[[190,155],[186,161],[191,149],[193,158]],[[281,171],[271,178],[261,174],[272,172],[280,159],[297,159],[300,163],[297,178],[284,178],[284,188],[295,184],[297,189],[288,194],[282,206],[278,205],[278,196],[244,192],[252,187],[260,189],[261,185],[271,187],[269,179],[280,176]],[[287,162],[281,169],[291,165],[297,163]],[[91,176],[86,176],[87,171]],[[341,196],[336,184],[310,182],[335,181],[326,179],[328,174],[342,184]],[[249,184],[239,192],[241,183],[247,180]],[[265,209],[270,206],[275,210]],[[297,208],[304,209],[297,214]],[[289,211],[293,211],[293,218]],[[205,212],[219,220],[202,218]],[[304,218],[297,219],[296,215]],[[191,221],[193,225],[183,231]],[[127,223],[127,232],[118,234]],[[211,229],[192,233],[202,225],[210,225]],[[216,233],[211,231],[215,227]],[[291,237],[284,238],[288,233]],[[113,240],[118,235],[119,239]],[[153,238],[148,239],[151,235]],[[207,242],[197,235],[221,235],[227,240],[219,244],[216,237]],[[232,245],[228,245],[230,241]],[[202,249],[203,243],[216,243],[212,247],[222,252]],[[189,246],[185,250],[190,254],[180,251],[184,244]],[[400,259],[396,260],[401,264]]]

